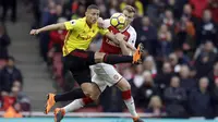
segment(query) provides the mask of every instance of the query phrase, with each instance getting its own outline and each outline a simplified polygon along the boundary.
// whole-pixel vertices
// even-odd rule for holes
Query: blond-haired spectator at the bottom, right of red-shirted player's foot
[[[152,113],[153,117],[161,117],[165,113],[165,108],[159,96],[153,96],[148,103],[148,108],[145,110],[146,113]]]

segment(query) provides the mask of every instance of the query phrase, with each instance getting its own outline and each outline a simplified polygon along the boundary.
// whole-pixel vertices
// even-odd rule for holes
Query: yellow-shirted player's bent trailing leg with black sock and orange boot
[[[90,82],[90,70],[87,65],[86,59],[75,56],[68,56],[65,57],[64,64],[66,64],[70,69],[74,80],[80,84],[81,89],[75,88],[69,93],[60,95],[49,94],[46,102],[45,113],[48,113],[52,106],[58,101],[74,100],[85,96],[89,96],[95,100],[95,97],[93,97],[93,94],[95,93],[93,91],[94,87]]]

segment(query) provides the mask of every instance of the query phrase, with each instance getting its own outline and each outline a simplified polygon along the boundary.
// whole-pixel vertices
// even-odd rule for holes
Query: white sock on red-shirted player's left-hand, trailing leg
[[[72,101],[71,103],[69,103],[68,106],[63,107],[63,109],[66,113],[66,112],[78,110],[80,108],[83,108],[83,107],[84,107],[83,99],[76,99]]]

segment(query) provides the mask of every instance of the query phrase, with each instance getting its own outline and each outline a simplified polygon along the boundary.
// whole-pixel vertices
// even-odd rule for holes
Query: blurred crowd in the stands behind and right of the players
[[[138,111],[161,117],[218,115],[217,0],[33,0],[33,27],[83,17],[95,3],[109,19],[126,4],[137,10],[132,26],[145,47],[143,64],[119,64],[131,83]],[[38,36],[40,54],[63,91],[76,87],[61,59],[65,30]],[[89,49],[98,51],[98,36]],[[107,88],[96,111],[126,111],[116,88]],[[90,106],[92,107],[92,106]],[[99,107],[99,106],[98,106]]]

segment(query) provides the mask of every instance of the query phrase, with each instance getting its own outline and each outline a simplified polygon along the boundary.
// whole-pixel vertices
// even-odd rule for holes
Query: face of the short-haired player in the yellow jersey
[[[99,14],[100,11],[96,9],[87,10],[87,12],[85,13],[86,20],[89,24],[95,24],[98,21]]]

